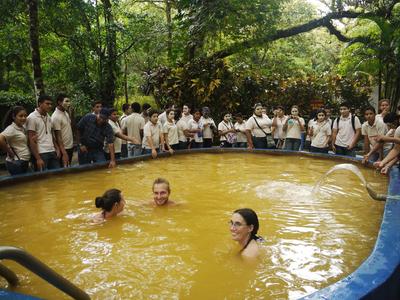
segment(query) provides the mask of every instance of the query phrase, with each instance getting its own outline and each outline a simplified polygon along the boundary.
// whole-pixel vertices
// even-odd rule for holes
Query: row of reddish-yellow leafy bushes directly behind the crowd
[[[233,71],[224,61],[196,60],[174,69],[159,68],[148,78],[148,88],[160,106],[173,102],[179,106],[208,106],[214,116],[225,111],[252,113],[254,103],[262,102],[272,109],[277,105],[287,110],[298,105],[304,114],[311,112],[311,102],[322,100],[337,107],[346,100],[354,108],[368,105],[370,83],[339,76],[309,76],[304,79],[248,76]]]

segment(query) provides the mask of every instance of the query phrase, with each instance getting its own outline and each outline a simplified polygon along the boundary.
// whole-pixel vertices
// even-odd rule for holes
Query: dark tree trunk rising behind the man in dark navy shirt
[[[117,37],[115,33],[114,17],[110,0],[103,0],[104,23],[106,27],[106,61],[103,68],[104,83],[102,86],[102,100],[106,106],[112,107],[115,100],[117,81]]]

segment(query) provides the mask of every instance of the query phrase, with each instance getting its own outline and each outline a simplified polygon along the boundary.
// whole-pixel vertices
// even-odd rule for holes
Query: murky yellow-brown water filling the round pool
[[[350,172],[315,182],[335,162],[255,154],[195,154],[66,175],[0,191],[0,241],[25,248],[95,299],[296,299],[354,271],[371,252],[384,209]],[[386,179],[362,170],[378,192]],[[151,184],[170,180],[180,205],[153,208]],[[91,225],[94,198],[121,189],[126,214]],[[235,253],[231,212],[259,215],[265,256]],[[17,291],[62,298],[20,274]],[[0,287],[4,282],[0,281]]]

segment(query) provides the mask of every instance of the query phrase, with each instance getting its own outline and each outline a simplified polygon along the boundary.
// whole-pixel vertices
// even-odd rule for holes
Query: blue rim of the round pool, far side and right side
[[[238,153],[243,154],[270,154],[305,156],[320,159],[334,159],[336,161],[353,162],[360,164],[360,159],[353,157],[336,156],[330,154],[314,154],[308,152],[284,151],[284,150],[247,150],[247,149],[194,149],[177,151],[176,155],[189,153]],[[162,158],[169,157],[169,153],[159,155]],[[134,163],[151,159],[150,155],[142,155],[135,158],[127,158],[118,164]],[[107,167],[108,163],[97,163],[85,166],[74,166],[67,169],[57,169],[41,173],[30,173],[20,176],[0,177],[0,187],[15,183],[46,178],[51,175],[62,175],[79,173]],[[321,289],[303,299],[397,299],[400,296],[400,182],[399,168],[394,167],[390,173],[389,197],[386,201],[384,215],[377,242],[371,255],[360,265],[360,267],[344,279]],[[12,292],[11,292],[12,293]],[[0,293],[0,298],[1,293]],[[22,299],[22,298],[21,298]],[[27,296],[26,299],[32,299]]]

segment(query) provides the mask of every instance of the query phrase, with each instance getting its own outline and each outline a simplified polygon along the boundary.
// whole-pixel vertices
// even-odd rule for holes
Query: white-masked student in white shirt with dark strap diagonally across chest
[[[272,121],[267,115],[262,114],[261,103],[254,105],[253,116],[246,121],[247,148],[267,149],[268,135],[271,135]]]

